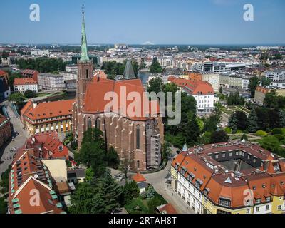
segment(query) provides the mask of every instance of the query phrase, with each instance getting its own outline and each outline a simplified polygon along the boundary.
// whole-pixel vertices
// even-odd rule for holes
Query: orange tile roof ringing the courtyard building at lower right
[[[219,147],[218,147],[219,146]],[[185,172],[184,176],[195,185],[199,181],[202,185],[200,191],[207,191],[207,197],[214,204],[219,204],[219,199],[229,199],[232,208],[245,207],[244,195],[246,191],[252,190],[255,199],[261,199],[261,203],[266,203],[266,197],[271,195],[284,196],[285,194],[285,175],[284,160],[278,160],[276,155],[261,149],[258,145],[237,144],[227,145],[225,143],[217,145],[204,145],[199,152],[195,153],[197,147],[193,147],[188,153],[180,153],[172,162],[172,167],[180,172]],[[212,158],[216,152],[235,152],[242,151],[261,160],[269,161],[268,170],[264,167],[252,168],[252,170],[241,170],[240,175],[233,170],[222,171],[222,163]],[[280,170],[274,170],[274,162],[279,164]],[[209,166],[212,164],[212,168]],[[217,168],[215,168],[217,167]],[[276,167],[276,165],[275,165]],[[264,170],[264,171],[262,171]],[[251,172],[251,171],[254,171]],[[193,176],[192,180],[188,176]],[[254,199],[254,200],[255,200]]]

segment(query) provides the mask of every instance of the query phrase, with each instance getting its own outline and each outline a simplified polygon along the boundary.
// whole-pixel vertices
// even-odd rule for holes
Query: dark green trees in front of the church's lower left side
[[[135,182],[127,182],[122,187],[110,175],[107,167],[118,169],[120,160],[113,147],[106,151],[103,133],[97,128],[89,128],[84,133],[81,150],[76,153],[75,160],[88,169],[86,182],[78,184],[76,192],[71,195],[72,206],[68,208],[71,214],[114,213],[139,196]]]

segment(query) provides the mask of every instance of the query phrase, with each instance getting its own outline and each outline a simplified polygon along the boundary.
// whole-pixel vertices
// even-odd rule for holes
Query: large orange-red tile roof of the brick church
[[[125,91],[121,94],[121,90]],[[140,95],[139,100],[133,98],[133,93]],[[105,98],[105,95],[109,94],[109,98]],[[115,99],[118,95],[118,100]],[[123,96],[123,97],[121,97]],[[130,99],[127,97],[130,96]],[[121,99],[123,98],[123,99]],[[123,100],[126,103],[123,103]],[[117,103],[118,101],[118,103]],[[144,110],[144,102],[147,102],[148,110]],[[130,105],[139,105],[139,108],[133,108],[135,116],[129,115]],[[131,120],[147,120],[150,115],[157,115],[160,113],[159,105],[155,105],[155,108],[149,108],[151,103],[148,101],[145,95],[145,89],[142,87],[140,79],[125,80],[125,81],[111,81],[103,78],[94,78],[92,83],[88,83],[84,113],[104,113],[107,105],[109,105],[110,111],[128,117]],[[156,109],[156,110],[155,110]],[[127,113],[125,113],[125,111]]]

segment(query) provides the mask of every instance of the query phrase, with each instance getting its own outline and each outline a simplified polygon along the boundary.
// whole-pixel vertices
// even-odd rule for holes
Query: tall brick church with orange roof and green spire
[[[128,112],[122,111],[132,103],[127,97],[134,92],[140,94],[141,99],[147,100],[147,113],[144,113],[143,107],[135,110],[135,113],[141,115],[128,115]],[[100,75],[93,76],[93,62],[88,57],[83,12],[81,59],[78,61],[76,102],[73,104],[73,133],[78,136],[78,146],[81,147],[83,134],[88,128],[98,128],[103,132],[106,147],[114,147],[121,160],[127,159],[130,170],[142,171],[159,167],[164,125],[159,115],[159,105],[156,101],[155,104],[150,102],[144,92],[130,61],[125,66],[122,80],[113,81]],[[105,99],[106,94],[111,94],[108,100]],[[111,105],[106,113],[106,105],[115,103],[115,100],[118,104]],[[145,105],[142,100],[140,103]],[[156,108],[152,111],[154,106]]]

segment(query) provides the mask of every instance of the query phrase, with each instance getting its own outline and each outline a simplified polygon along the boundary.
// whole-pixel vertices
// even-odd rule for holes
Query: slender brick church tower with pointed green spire
[[[76,91],[76,103],[78,113],[81,113],[84,105],[84,98],[87,85],[93,80],[93,61],[88,56],[87,37],[85,28],[84,5],[82,7],[82,28],[81,28],[81,58],[78,61],[78,81]]]

